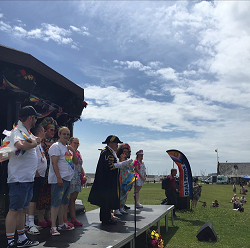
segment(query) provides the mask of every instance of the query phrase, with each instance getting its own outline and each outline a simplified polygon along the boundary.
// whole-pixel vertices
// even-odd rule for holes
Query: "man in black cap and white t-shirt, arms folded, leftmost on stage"
[[[38,116],[32,106],[23,107],[19,113],[19,121],[10,135],[10,143],[17,149],[10,153],[8,163],[9,212],[6,216],[6,236],[10,247],[30,247],[38,245],[25,235],[25,211],[33,194],[33,182],[37,170],[37,154],[35,147],[41,143],[30,132],[35,126]],[[18,241],[15,244],[14,234],[17,230]]]

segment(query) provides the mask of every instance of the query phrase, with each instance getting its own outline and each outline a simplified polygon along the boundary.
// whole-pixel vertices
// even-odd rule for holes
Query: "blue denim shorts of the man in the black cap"
[[[9,210],[23,210],[29,208],[33,196],[33,182],[8,183],[10,206]]]

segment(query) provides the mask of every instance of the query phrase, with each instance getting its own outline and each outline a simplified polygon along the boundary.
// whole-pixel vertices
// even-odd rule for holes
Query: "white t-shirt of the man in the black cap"
[[[9,136],[10,141],[15,144],[17,141],[25,140],[22,133],[24,133],[28,138],[34,137],[30,135],[27,129],[18,122],[18,128],[15,128],[11,131]],[[20,132],[22,131],[22,133]],[[15,152],[10,153],[9,163],[8,163],[8,183],[27,183],[34,182],[34,177],[37,170],[37,153],[36,149],[32,148],[25,151],[22,154],[22,151],[19,155]]]

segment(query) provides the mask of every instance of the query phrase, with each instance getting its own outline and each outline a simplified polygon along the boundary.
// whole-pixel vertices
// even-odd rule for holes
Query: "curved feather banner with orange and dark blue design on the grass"
[[[178,150],[168,150],[167,153],[179,169],[180,197],[193,197],[192,172],[186,156]]]

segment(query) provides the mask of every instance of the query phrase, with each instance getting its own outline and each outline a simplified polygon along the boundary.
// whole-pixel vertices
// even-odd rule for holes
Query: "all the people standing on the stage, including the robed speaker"
[[[26,231],[38,235],[42,228],[50,227],[50,234],[55,236],[60,235],[60,230],[70,231],[83,225],[76,219],[75,205],[87,180],[78,150],[79,139],[70,138],[69,128],[59,128],[52,117],[45,117],[38,124],[39,117],[41,114],[32,106],[23,107],[16,127],[4,140],[9,159],[10,204],[5,221],[8,248],[38,245],[38,241],[26,236]],[[136,207],[143,208],[139,192],[146,180],[146,167],[143,150],[136,152],[133,161],[129,144],[117,136],[110,135],[102,143],[106,147],[101,151],[88,201],[100,206],[103,224],[116,224],[117,216],[128,214],[126,199],[132,185],[136,188]]]

